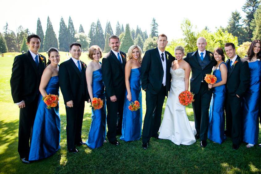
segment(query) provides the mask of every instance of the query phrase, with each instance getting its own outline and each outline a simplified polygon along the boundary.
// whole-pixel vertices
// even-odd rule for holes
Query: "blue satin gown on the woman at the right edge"
[[[259,95],[260,95],[260,75],[261,61],[249,62],[250,86],[247,89],[243,100],[243,142],[257,144],[259,131]]]

